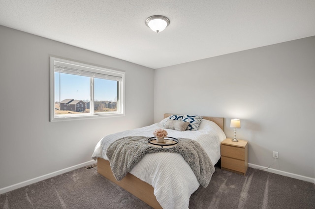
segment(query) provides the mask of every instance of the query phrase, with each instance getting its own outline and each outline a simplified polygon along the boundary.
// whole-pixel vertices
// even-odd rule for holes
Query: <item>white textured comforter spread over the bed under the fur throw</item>
[[[125,136],[153,137],[153,131],[163,128],[167,118],[151,126],[123,131],[102,138],[95,146],[93,159],[107,159],[106,149],[115,140]],[[205,149],[213,165],[221,157],[220,144],[226,138],[221,128],[212,121],[202,119],[198,131],[165,129],[168,136],[196,140]],[[188,209],[189,198],[199,183],[188,163],[180,154],[154,153],[146,155],[130,173],[154,187],[154,194],[163,209]]]

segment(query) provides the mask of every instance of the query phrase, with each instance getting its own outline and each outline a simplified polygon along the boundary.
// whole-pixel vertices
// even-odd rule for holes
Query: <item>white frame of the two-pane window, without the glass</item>
[[[78,69],[79,71],[86,71],[92,74],[98,74],[108,77],[119,77],[121,80],[116,80],[117,85],[117,111],[112,112],[95,112],[94,110],[94,78],[90,78],[90,113],[78,113],[78,114],[65,114],[65,115],[55,115],[55,65],[60,64],[65,67],[71,67]],[[79,75],[80,76],[80,75]],[[62,59],[57,57],[50,57],[50,121],[67,121],[67,120],[82,120],[82,119],[92,119],[92,118],[102,118],[102,117],[115,117],[115,116],[125,116],[125,101],[126,101],[126,88],[125,80],[126,73],[123,71],[108,69],[104,67],[99,67],[95,65],[85,64],[83,62],[71,61],[68,59]],[[97,77],[95,77],[97,78]],[[103,78],[106,79],[106,78]],[[114,79],[109,79],[114,80]],[[61,102],[61,101],[59,101]],[[60,104],[61,105],[61,104]],[[82,104],[83,105],[83,104]],[[93,110],[91,110],[91,107]],[[60,108],[61,109],[61,108]]]

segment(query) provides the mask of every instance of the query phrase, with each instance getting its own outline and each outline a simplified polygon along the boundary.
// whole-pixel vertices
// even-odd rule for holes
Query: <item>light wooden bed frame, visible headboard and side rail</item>
[[[171,115],[173,114],[164,114],[164,118]],[[223,118],[204,116],[202,118],[215,122],[223,130]],[[121,186],[143,202],[147,203],[152,208],[162,209],[154,195],[154,188],[149,183],[141,181],[130,173],[128,173],[123,180],[117,181],[110,168],[109,161],[100,157],[97,158],[97,172],[113,183]]]

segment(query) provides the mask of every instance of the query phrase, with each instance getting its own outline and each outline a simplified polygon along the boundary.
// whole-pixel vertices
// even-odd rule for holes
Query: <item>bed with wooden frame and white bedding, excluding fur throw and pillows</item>
[[[117,181],[106,156],[106,149],[113,141],[125,136],[152,137],[153,131],[163,128],[172,115],[164,114],[162,121],[151,126],[105,136],[97,143],[92,155],[93,159],[97,159],[99,174],[155,209],[188,209],[189,198],[200,184],[183,157],[175,153],[146,155],[123,180]],[[202,117],[198,131],[165,130],[168,136],[189,138],[199,142],[213,165],[220,159],[220,144],[226,138],[223,132],[223,118]]]

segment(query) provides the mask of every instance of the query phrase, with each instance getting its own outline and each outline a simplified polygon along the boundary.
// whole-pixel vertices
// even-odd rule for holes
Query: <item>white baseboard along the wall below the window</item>
[[[13,185],[10,185],[10,186],[6,186],[6,187],[3,187],[3,188],[0,188],[0,194],[12,191],[14,189],[21,188],[23,186],[30,185],[32,183],[40,182],[40,181],[43,181],[45,179],[49,179],[49,178],[52,178],[52,177],[64,174],[66,172],[73,171],[75,169],[82,168],[82,167],[85,167],[85,166],[88,166],[88,165],[92,165],[92,164],[95,164],[95,163],[96,163],[95,160],[90,160],[90,161],[87,161],[87,162],[84,162],[84,163],[80,163],[78,165],[74,165],[74,166],[71,166],[71,167],[68,167],[68,168],[64,168],[64,169],[59,170],[59,171],[55,171],[53,173],[49,173],[49,174],[46,174],[46,175],[43,175],[43,176],[39,176],[39,177],[30,179],[30,180],[27,180],[27,181],[24,181],[24,182],[21,182],[21,183],[16,183],[16,184],[13,184]]]

